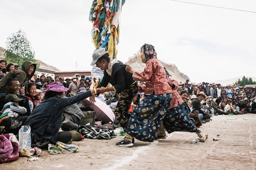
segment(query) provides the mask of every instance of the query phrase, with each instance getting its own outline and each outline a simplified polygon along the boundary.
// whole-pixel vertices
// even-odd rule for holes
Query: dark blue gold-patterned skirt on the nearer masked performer
[[[172,94],[149,95],[133,109],[126,133],[144,142],[153,142],[168,112]]]

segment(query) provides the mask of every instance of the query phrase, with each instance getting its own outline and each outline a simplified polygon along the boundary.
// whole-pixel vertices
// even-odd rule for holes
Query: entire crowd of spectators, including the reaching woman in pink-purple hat
[[[18,134],[22,125],[31,127],[32,147],[47,147],[56,141],[72,143],[69,130],[78,129],[85,109],[82,100],[97,94],[92,77],[75,74],[72,78],[35,74],[36,64],[25,61],[22,66],[0,61],[0,126],[1,133]],[[91,89],[91,90],[90,90]],[[129,113],[147,97],[145,83],[138,82],[138,93]],[[211,121],[213,115],[256,113],[255,87],[230,87],[214,83],[180,83],[177,92],[197,126]],[[121,93],[107,91],[97,97],[113,110]],[[62,124],[62,115],[70,120]],[[106,122],[108,123],[108,122]],[[60,128],[64,131],[59,131]]]

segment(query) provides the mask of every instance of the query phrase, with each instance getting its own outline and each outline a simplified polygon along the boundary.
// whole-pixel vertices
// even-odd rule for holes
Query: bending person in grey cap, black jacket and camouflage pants
[[[110,60],[106,49],[100,48],[92,54],[93,62],[91,66],[96,64],[98,68],[104,70],[104,76],[97,88],[101,87],[99,92],[116,91],[122,93],[118,100],[114,114],[120,125],[126,129],[127,120],[130,118],[129,108],[133,97],[138,92],[137,82],[133,80],[132,73],[125,71],[126,65],[117,59]],[[108,83],[112,87],[107,87]]]

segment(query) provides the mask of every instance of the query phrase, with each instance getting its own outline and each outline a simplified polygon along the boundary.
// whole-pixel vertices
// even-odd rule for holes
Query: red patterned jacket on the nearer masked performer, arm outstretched
[[[146,67],[142,73],[134,71],[133,80],[146,82],[145,94],[155,95],[172,93],[172,87],[167,82],[167,75],[164,67],[154,56],[146,63]]]

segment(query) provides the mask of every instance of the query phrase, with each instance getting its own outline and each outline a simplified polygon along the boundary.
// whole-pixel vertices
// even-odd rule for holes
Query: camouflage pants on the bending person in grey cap
[[[128,89],[125,89],[115,107],[115,117],[119,121],[120,125],[126,130],[127,120],[130,118],[129,108],[132,104],[133,97],[138,92],[137,82],[132,84]]]

